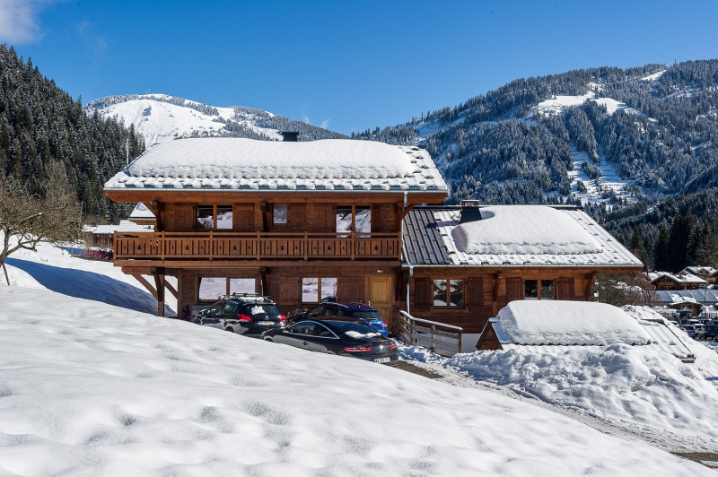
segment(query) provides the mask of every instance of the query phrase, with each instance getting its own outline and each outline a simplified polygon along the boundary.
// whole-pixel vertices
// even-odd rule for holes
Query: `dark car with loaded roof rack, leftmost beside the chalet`
[[[286,325],[286,317],[276,303],[255,293],[235,293],[220,299],[211,307],[197,313],[197,325],[236,334],[257,335]]]

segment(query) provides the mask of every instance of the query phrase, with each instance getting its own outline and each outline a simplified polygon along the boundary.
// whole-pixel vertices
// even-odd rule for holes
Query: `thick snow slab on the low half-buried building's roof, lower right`
[[[528,345],[648,344],[635,319],[605,303],[517,300],[496,316],[512,343]]]

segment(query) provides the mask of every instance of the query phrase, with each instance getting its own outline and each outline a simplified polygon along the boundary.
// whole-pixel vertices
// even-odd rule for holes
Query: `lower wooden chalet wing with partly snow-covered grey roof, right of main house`
[[[598,273],[643,268],[576,207],[416,207],[404,219],[402,247],[400,306],[462,327],[473,343],[513,300],[589,300]]]

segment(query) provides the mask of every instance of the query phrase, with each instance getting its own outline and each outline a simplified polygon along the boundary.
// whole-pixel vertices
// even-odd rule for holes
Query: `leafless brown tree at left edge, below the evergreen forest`
[[[65,169],[57,161],[51,161],[45,169],[41,195],[31,195],[18,179],[0,175],[0,231],[3,233],[0,265],[8,285],[5,258],[21,248],[37,251],[40,242],[77,239],[81,223],[79,207]]]

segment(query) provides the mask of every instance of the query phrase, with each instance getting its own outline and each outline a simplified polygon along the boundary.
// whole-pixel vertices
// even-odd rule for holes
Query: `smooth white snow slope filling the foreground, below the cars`
[[[529,403],[362,360],[50,291],[0,287],[0,302],[3,474],[711,473]]]

